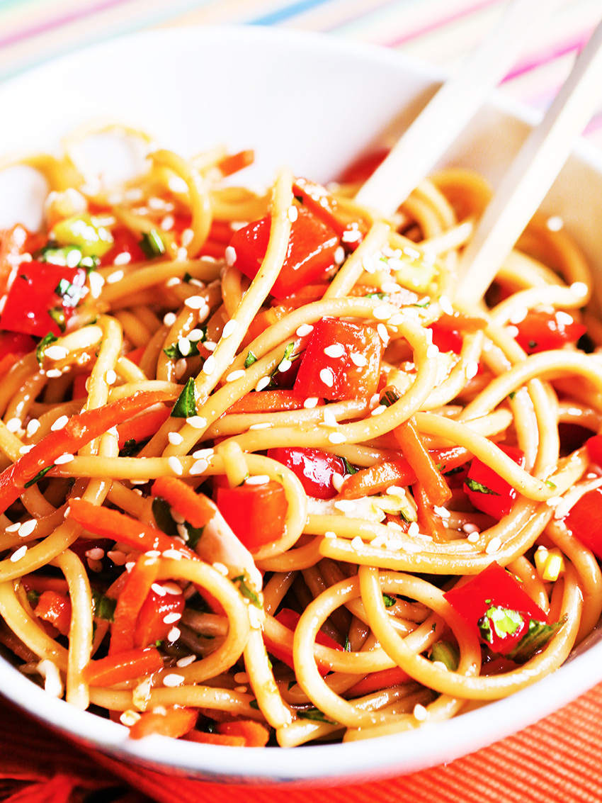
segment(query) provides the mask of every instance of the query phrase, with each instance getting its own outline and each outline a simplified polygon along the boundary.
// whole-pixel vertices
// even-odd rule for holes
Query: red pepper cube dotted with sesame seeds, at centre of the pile
[[[369,398],[378,388],[382,353],[371,326],[323,318],[311,332],[293,389],[305,398]]]

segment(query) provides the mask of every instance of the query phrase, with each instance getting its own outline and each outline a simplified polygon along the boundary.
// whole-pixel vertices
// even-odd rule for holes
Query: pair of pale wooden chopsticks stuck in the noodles
[[[445,153],[504,77],[535,23],[560,0],[515,0],[490,35],[449,79],[388,157],[356,194],[356,200],[393,214]],[[602,22],[581,51],[542,122],[533,129],[486,207],[458,265],[458,300],[475,304],[485,293],[554,183],[576,137],[602,97]]]

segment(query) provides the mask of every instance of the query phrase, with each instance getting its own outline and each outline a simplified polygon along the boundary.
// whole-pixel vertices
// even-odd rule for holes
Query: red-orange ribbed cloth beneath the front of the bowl
[[[368,784],[315,787],[312,803],[600,803],[602,684],[530,728],[451,764]],[[119,803],[222,803],[248,787],[205,784],[87,757],[0,698],[0,800],[75,803],[112,789]],[[2,780],[3,779],[3,780]],[[10,782],[12,779],[12,783]],[[67,794],[67,797],[65,795]],[[107,793],[108,794],[108,793]],[[96,800],[102,798],[96,797]],[[306,803],[307,789],[258,786],[254,803]]]

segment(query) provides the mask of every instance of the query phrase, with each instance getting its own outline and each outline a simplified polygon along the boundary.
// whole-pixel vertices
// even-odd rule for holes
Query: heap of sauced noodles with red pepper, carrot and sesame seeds
[[[104,132],[105,134],[107,132]],[[78,137],[0,247],[0,642],[130,728],[294,747],[420,728],[559,667],[602,612],[592,279],[535,218],[474,308],[490,190],[390,220],[252,161]],[[82,135],[83,136],[83,135]],[[6,166],[7,162],[4,163]]]

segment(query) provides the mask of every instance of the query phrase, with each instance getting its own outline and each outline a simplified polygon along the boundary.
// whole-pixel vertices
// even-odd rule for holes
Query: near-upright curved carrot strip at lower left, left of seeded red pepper
[[[151,585],[157,580],[158,573],[159,561],[156,558],[140,555],[136,560],[117,597],[111,627],[111,642],[108,646],[109,655],[133,649],[136,619]]]

